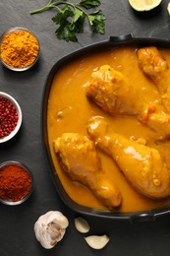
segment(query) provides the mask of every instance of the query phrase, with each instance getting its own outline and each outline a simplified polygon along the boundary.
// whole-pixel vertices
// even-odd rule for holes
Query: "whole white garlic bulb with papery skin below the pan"
[[[68,225],[68,219],[61,212],[50,211],[34,224],[35,237],[44,248],[50,249],[63,238]]]

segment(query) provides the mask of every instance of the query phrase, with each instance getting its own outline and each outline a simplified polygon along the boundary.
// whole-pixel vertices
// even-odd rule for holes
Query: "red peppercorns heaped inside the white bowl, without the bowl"
[[[18,112],[13,103],[0,96],[0,139],[7,137],[17,126]]]

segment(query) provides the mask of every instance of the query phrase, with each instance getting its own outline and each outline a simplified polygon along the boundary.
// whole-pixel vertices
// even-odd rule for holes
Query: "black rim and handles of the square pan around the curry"
[[[170,205],[158,208],[150,209],[148,211],[142,212],[110,212],[110,211],[99,211],[96,209],[91,209],[85,206],[81,206],[74,202],[69,195],[66,193],[59,177],[56,174],[56,170],[50,155],[49,145],[48,145],[48,134],[47,134],[47,107],[48,107],[48,97],[51,89],[51,85],[54,79],[56,72],[69,61],[72,61],[84,54],[93,53],[94,51],[100,51],[106,47],[117,47],[117,46],[148,46],[154,45],[157,47],[170,48],[170,41],[165,39],[158,38],[142,38],[142,37],[133,37],[132,34],[121,35],[121,36],[110,36],[108,40],[101,41],[88,45],[84,48],[81,48],[73,53],[64,56],[62,59],[56,62],[52,67],[44,88],[43,100],[42,100],[42,113],[41,113],[41,122],[42,122],[42,139],[44,143],[45,153],[50,164],[50,172],[52,176],[53,183],[56,187],[56,190],[61,197],[62,201],[67,205],[71,210],[76,213],[99,217],[99,218],[108,218],[114,220],[129,220],[130,222],[135,221],[153,221],[157,217],[165,216],[170,213]]]

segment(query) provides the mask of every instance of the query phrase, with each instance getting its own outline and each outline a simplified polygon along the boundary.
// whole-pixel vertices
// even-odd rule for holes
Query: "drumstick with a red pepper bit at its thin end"
[[[145,100],[142,90],[129,83],[122,73],[109,65],[94,71],[86,84],[86,96],[112,115],[132,115],[157,133],[157,139],[170,136],[170,115],[156,111],[151,98]],[[147,96],[148,97],[148,96]]]

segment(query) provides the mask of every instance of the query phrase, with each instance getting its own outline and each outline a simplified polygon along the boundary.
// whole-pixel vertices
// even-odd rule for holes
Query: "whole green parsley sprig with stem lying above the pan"
[[[81,0],[79,3],[71,3],[67,0],[50,0],[47,5],[31,11],[30,14],[56,9],[57,14],[52,18],[52,21],[58,26],[55,32],[57,38],[66,41],[78,41],[77,33],[84,32],[85,18],[92,32],[104,34],[106,18],[102,11],[97,10],[91,13],[86,11],[98,7],[100,4],[100,0]]]

